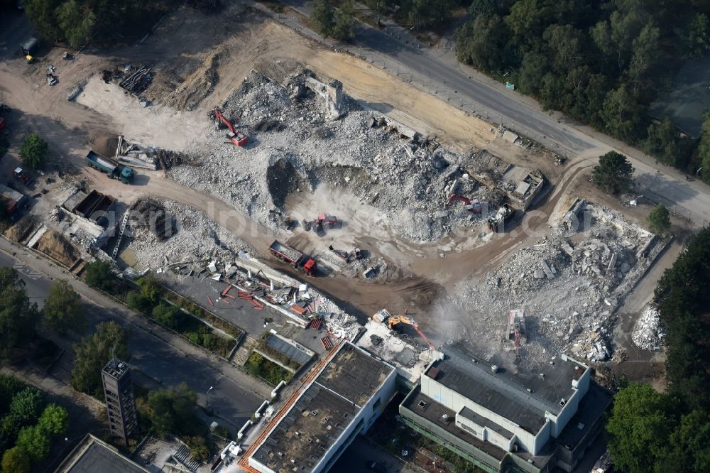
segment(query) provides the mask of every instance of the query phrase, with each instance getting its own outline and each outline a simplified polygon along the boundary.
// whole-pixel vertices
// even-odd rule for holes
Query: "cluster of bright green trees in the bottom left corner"
[[[45,460],[69,428],[65,408],[47,404],[42,391],[0,375],[0,452],[4,473],[27,473]]]

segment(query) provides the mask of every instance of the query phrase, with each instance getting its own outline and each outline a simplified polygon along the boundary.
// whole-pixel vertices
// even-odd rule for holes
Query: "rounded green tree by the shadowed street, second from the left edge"
[[[61,334],[86,330],[87,317],[82,298],[65,280],[50,286],[42,313],[47,325]]]

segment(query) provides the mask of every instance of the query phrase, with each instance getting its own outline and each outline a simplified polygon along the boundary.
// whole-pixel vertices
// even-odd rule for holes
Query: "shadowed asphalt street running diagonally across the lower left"
[[[6,253],[6,251],[15,250],[2,239],[0,239],[0,249],[4,250],[0,251],[0,266],[15,267],[26,283],[28,296],[41,305],[47,297],[49,286],[53,282],[52,278],[61,278],[62,270],[37,260],[33,254],[24,254],[25,252],[18,256],[26,261],[35,260],[37,263],[33,262],[32,266],[29,266],[27,263],[19,261]],[[40,270],[42,271],[40,272]],[[198,402],[202,406],[207,405],[207,390],[210,386],[214,386],[209,393],[209,406],[214,410],[214,415],[226,420],[236,428],[241,428],[251,413],[263,402],[263,398],[253,393],[249,388],[240,386],[234,379],[231,379],[231,376],[224,376],[215,370],[211,366],[214,361],[209,360],[206,354],[197,350],[189,350],[189,347],[187,347],[188,349],[185,347],[176,349],[165,342],[163,338],[156,337],[153,333],[143,330],[142,325],[136,324],[136,322],[141,322],[134,321],[138,316],[128,310],[117,309],[115,306],[107,308],[97,304],[97,301],[101,302],[101,298],[104,298],[103,295],[78,281],[73,279],[70,281],[75,283],[75,289],[84,296],[89,327],[94,327],[99,322],[106,320],[115,320],[121,326],[126,327],[126,330],[130,331],[129,353],[131,359],[129,363],[161,386],[176,386],[185,382],[198,394]],[[153,332],[157,333],[159,329],[155,327]],[[225,366],[225,369],[234,370],[229,366]],[[245,381],[249,381],[247,386],[250,388],[253,388],[256,383],[251,379]],[[263,390],[268,391],[267,388]]]

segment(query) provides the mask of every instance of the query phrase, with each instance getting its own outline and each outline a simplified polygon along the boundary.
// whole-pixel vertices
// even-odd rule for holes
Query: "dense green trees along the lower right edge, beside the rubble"
[[[631,384],[616,395],[607,424],[621,471],[710,471],[710,228],[705,228],[655,290],[667,328],[667,393]]]

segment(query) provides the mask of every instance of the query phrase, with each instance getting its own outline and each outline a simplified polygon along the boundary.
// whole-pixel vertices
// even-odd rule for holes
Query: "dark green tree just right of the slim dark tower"
[[[204,435],[205,426],[197,415],[195,403],[197,394],[182,383],[175,388],[148,393],[142,414],[161,438],[169,435]]]

